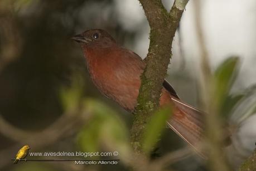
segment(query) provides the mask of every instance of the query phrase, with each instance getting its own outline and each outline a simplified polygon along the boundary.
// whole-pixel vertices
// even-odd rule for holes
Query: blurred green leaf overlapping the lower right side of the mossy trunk
[[[166,120],[170,118],[171,114],[171,106],[165,106],[151,116],[142,139],[142,149],[144,152],[150,152],[154,145],[156,145],[163,129],[165,129]]]

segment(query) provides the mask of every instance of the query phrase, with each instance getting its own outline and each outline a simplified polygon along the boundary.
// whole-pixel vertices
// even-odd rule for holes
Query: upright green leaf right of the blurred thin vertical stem
[[[238,75],[238,57],[229,57],[214,72],[213,84],[214,91],[212,96],[216,103],[216,108],[219,109],[229,94],[231,87]]]

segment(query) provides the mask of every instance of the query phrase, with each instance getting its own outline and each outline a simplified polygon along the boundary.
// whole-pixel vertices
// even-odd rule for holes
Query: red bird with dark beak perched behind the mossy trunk
[[[146,66],[142,58],[118,45],[104,30],[88,30],[73,40],[80,43],[90,77],[99,91],[124,109],[133,111],[141,86],[140,76]],[[202,139],[204,114],[182,102],[166,80],[160,99],[160,105],[163,104],[175,106],[168,126],[196,148]]]

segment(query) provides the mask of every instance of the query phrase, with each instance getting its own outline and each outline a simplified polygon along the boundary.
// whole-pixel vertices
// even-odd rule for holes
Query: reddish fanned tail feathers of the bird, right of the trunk
[[[205,155],[199,149],[204,136],[204,113],[172,97],[175,104],[172,118],[167,125],[175,131],[183,140],[189,143],[201,157]]]

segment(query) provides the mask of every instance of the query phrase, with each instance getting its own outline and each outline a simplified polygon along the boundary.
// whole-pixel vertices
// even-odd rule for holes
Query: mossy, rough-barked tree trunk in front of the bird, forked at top
[[[166,11],[161,0],[139,0],[139,2],[142,4],[151,31],[146,57],[147,65],[141,75],[138,104],[134,110],[131,130],[132,145],[137,154],[142,152],[141,137],[149,116],[159,107],[162,83],[172,55],[173,37],[187,1],[176,0],[170,12]],[[181,4],[183,4],[183,8]]]

